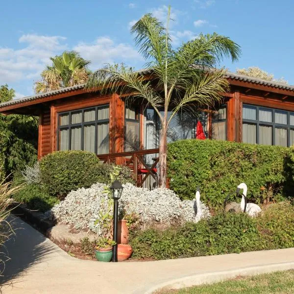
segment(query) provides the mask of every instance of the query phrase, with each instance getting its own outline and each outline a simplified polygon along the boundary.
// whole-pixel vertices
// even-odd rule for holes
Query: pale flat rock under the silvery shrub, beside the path
[[[74,232],[71,227],[66,224],[57,224],[49,228],[46,235],[57,241],[71,240],[73,243],[80,243],[81,239],[88,237],[90,241],[97,239],[97,235],[93,233],[87,233],[84,231]]]

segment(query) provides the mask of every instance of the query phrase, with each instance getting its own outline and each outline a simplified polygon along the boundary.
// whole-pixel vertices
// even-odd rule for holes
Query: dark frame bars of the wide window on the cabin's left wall
[[[98,109],[99,108],[103,108],[105,106],[108,106],[108,119],[104,119],[104,120],[98,120]],[[91,121],[91,122],[84,122],[84,112],[87,110],[91,110],[91,109],[95,109],[95,121]],[[82,112],[82,121],[81,123],[72,123],[72,113],[76,113],[76,112]],[[69,124],[65,124],[65,125],[59,125],[59,117],[60,115],[63,114],[68,114],[69,115]],[[110,127],[110,105],[109,103],[106,104],[101,104],[101,105],[97,105],[97,106],[91,106],[91,107],[86,107],[86,108],[80,108],[80,109],[73,109],[73,110],[69,110],[69,111],[62,111],[62,112],[58,112],[57,113],[57,150],[59,149],[59,131],[62,129],[68,129],[69,130],[69,148],[68,150],[72,150],[71,149],[71,145],[72,145],[72,132],[71,129],[73,127],[77,127],[80,126],[81,127],[81,146],[79,150],[84,150],[84,126],[85,125],[95,125],[95,154],[97,154],[97,149],[98,149],[98,134],[97,134],[97,130],[98,130],[98,124],[100,123],[108,123],[109,127]],[[109,150],[108,150],[109,152]],[[98,154],[97,154],[98,155]]]

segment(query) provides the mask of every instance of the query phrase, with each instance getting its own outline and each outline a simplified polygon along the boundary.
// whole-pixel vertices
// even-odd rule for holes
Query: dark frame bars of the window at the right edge
[[[248,119],[243,118],[243,107],[244,106],[248,106],[248,107],[256,109],[256,120],[248,120]],[[263,109],[271,111],[271,118],[272,118],[271,123],[270,122],[263,122],[263,121],[259,120],[259,110],[263,110]],[[287,114],[287,124],[275,123],[275,112],[285,112]],[[290,130],[291,129],[294,130],[294,125],[290,124],[290,115],[294,115],[294,111],[243,103],[243,105],[242,105],[242,131],[243,131],[243,123],[255,124],[256,125],[256,144],[260,144],[259,143],[259,141],[260,141],[259,140],[259,126],[260,125],[271,126],[272,127],[272,130],[271,130],[271,133],[272,133],[271,134],[271,138],[272,138],[271,146],[275,146],[275,128],[276,127],[277,128],[284,128],[284,129],[287,129],[287,147],[290,147],[291,146],[290,145],[291,144]],[[242,142],[243,142],[243,140],[242,140]],[[276,146],[279,146],[279,145],[276,145]]]

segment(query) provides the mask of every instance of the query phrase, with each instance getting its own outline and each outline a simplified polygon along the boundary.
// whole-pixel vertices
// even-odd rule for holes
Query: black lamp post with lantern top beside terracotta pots
[[[118,219],[119,219],[119,199],[123,193],[123,186],[115,180],[110,186],[113,198],[113,246],[112,262],[118,262]]]

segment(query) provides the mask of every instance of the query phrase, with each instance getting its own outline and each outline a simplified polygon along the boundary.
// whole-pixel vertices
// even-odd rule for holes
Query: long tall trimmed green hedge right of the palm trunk
[[[168,146],[170,188],[182,199],[201,198],[211,207],[220,206],[241,182],[249,200],[280,197],[293,188],[293,150],[214,140],[182,140]],[[264,192],[263,192],[264,190]]]

